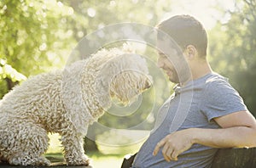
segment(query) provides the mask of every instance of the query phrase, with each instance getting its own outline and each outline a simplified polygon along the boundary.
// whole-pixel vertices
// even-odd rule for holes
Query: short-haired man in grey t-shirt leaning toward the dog
[[[178,51],[158,33],[158,65],[177,87],[166,101],[166,115],[160,109],[160,124],[132,167],[211,167],[217,148],[255,147],[255,118],[226,78],[208,64],[207,33],[201,23],[189,15],[177,15],[157,29],[177,42],[183,59],[173,57]],[[185,115],[177,120],[179,113]],[[175,122],[180,126],[173,132]]]

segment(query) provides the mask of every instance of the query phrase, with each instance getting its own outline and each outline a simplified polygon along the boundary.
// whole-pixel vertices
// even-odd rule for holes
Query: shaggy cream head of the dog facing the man
[[[152,85],[146,60],[135,53],[125,53],[111,60],[109,93],[123,104],[131,104]]]

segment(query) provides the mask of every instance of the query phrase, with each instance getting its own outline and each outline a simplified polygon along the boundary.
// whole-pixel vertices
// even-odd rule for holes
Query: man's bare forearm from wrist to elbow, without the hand
[[[190,128],[193,143],[213,148],[243,148],[256,146],[255,128],[233,126],[221,129]]]

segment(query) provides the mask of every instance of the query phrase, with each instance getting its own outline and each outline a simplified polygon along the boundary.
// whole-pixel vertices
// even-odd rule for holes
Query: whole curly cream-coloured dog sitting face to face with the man
[[[89,165],[83,137],[111,106],[129,104],[150,87],[143,57],[129,48],[102,49],[90,58],[34,76],[0,101],[0,160],[10,165],[50,165],[49,132],[61,135],[67,165]]]

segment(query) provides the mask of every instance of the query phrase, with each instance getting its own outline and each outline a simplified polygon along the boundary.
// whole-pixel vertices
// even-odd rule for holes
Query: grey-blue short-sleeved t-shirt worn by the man
[[[166,114],[163,112],[168,105]],[[185,108],[184,108],[185,107]],[[212,120],[215,117],[228,115],[241,110],[247,110],[239,93],[230,86],[223,76],[210,73],[195,81],[190,81],[185,87],[176,87],[175,93],[166,101],[159,111],[156,126],[150,133],[148,140],[140,148],[132,167],[211,167],[217,148],[210,148],[201,144],[192,145],[189,150],[178,156],[177,161],[167,162],[161,150],[153,156],[153,150],[162,138],[172,133],[173,123],[178,112],[182,111],[186,116],[181,117],[181,122],[175,130],[183,130],[190,127],[197,128],[219,128]],[[163,114],[161,114],[163,113]]]

